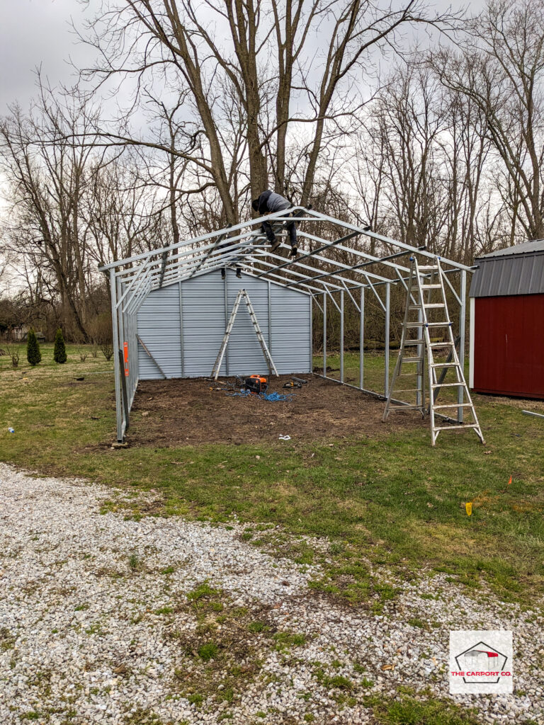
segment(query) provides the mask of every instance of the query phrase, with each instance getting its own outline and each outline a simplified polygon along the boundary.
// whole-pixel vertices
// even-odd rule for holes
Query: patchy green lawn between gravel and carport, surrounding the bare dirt
[[[41,349],[36,368],[24,354],[16,370],[0,357],[0,460],[153,488],[164,500],[160,513],[213,521],[236,515],[247,522],[248,540],[302,562],[318,555],[297,537],[330,537],[327,576],[314,586],[353,604],[370,601],[374,610],[395,596],[370,573],[376,565],[393,568],[399,581],[428,569],[446,571],[475,590],[487,581],[504,600],[532,607],[541,596],[544,421],[522,415],[522,407],[542,411],[542,403],[475,396],[485,446],[466,431],[440,434],[432,448],[424,429],[287,447],[113,451],[99,445],[115,435],[112,363],[100,352],[91,357],[90,349],[81,361],[78,349],[67,345],[68,362],[57,365],[53,346]],[[338,366],[337,357],[327,362]],[[367,355],[365,363],[368,386],[380,384],[383,357]],[[357,364],[358,355],[346,355],[347,380],[358,378]],[[471,518],[464,507],[469,501]],[[263,523],[281,525],[281,533],[257,526]]]

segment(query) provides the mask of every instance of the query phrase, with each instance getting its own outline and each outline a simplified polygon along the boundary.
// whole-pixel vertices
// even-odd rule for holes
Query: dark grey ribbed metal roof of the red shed
[[[544,239],[498,249],[475,264],[470,297],[544,294]]]

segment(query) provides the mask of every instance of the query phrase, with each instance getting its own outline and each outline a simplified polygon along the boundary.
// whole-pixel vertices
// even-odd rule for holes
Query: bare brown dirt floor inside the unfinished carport
[[[231,397],[204,378],[140,381],[127,441],[131,445],[179,446],[375,438],[393,430],[428,425],[414,411],[392,413],[382,423],[384,402],[313,375],[289,401]],[[233,378],[230,378],[231,380]],[[289,393],[289,376],[273,378],[268,392]],[[210,390],[210,387],[214,389]],[[223,386],[221,386],[223,387]]]

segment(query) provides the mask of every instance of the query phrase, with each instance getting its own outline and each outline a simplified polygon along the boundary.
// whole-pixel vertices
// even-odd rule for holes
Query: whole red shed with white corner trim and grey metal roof
[[[476,260],[470,299],[470,386],[544,399],[544,240]]]

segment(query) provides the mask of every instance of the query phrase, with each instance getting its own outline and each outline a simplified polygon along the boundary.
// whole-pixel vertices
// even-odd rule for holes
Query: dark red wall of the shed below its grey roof
[[[474,390],[544,398],[544,294],[475,300]]]

